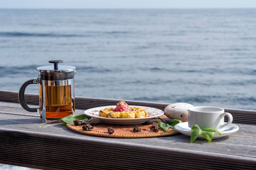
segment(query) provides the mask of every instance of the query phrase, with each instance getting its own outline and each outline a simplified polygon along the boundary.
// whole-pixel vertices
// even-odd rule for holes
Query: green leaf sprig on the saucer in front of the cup
[[[193,141],[202,134],[202,136],[208,140],[208,143],[211,142],[211,140],[214,137],[214,132],[221,135],[220,131],[217,129],[211,129],[211,128],[203,128],[201,129],[197,124],[192,127],[192,133],[190,136],[190,142],[193,143]]]

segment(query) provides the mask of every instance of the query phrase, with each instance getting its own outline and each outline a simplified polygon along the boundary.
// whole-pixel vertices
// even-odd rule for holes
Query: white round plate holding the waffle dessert
[[[130,106],[132,107],[140,107],[143,109],[148,110],[148,117],[141,117],[141,118],[134,118],[134,119],[130,119],[130,118],[108,118],[108,117],[100,117],[99,116],[99,110],[107,108],[107,107],[113,107],[115,108],[115,106],[102,106],[102,107],[97,107],[97,108],[90,108],[88,110],[85,110],[84,113],[87,116],[90,117],[94,117],[97,119],[100,119],[101,121],[105,122],[105,123],[109,123],[109,124],[142,124],[152,118],[155,117],[159,117],[164,115],[164,111],[157,109],[157,108],[151,108],[151,107],[146,107],[146,106]]]

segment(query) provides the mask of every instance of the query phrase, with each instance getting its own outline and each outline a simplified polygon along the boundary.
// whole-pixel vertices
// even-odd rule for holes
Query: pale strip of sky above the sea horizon
[[[0,8],[18,9],[161,9],[256,8],[256,0],[0,0]]]

